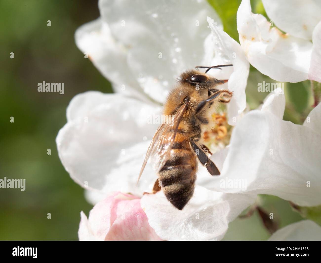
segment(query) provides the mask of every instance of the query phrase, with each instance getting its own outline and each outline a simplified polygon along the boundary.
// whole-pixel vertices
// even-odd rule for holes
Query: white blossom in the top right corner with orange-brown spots
[[[320,3],[263,0],[263,4],[271,23],[288,33],[270,28],[263,15],[251,12],[250,0],[242,0],[237,25],[248,61],[261,73],[280,82],[320,80],[320,26],[316,27],[321,21]]]

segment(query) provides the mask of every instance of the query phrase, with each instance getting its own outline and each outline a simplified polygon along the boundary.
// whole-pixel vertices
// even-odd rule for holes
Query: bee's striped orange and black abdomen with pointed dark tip
[[[196,156],[190,148],[189,137],[177,133],[169,159],[158,177],[165,196],[179,210],[193,196],[196,168]]]

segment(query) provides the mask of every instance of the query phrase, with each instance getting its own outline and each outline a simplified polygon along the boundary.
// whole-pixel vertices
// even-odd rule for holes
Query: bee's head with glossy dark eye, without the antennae
[[[180,83],[188,83],[199,89],[210,89],[214,88],[216,85],[224,84],[228,80],[218,80],[198,70],[189,70],[184,72],[178,81]]]

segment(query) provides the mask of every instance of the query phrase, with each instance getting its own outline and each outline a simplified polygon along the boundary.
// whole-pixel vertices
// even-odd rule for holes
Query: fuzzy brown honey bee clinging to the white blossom
[[[228,103],[232,92],[218,90],[216,86],[228,80],[218,80],[206,74],[212,67],[198,66],[180,75],[178,85],[169,93],[164,114],[172,121],[157,129],[147,150],[140,179],[151,157],[158,173],[153,192],[163,190],[169,202],[182,210],[193,196],[197,171],[197,158],[211,175],[220,175],[219,169],[208,158],[212,153],[202,142],[202,134],[213,128],[211,115],[218,103]],[[198,68],[207,68],[202,73]],[[138,181],[137,181],[138,183]]]

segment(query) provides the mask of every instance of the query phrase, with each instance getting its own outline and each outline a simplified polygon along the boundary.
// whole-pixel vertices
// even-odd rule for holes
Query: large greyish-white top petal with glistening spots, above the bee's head
[[[174,0],[161,4],[156,0],[100,1],[99,8],[113,37],[126,48],[134,79],[160,102],[165,101],[182,71],[202,62],[203,43],[210,33],[206,17],[213,17],[221,25],[205,0],[187,0],[184,4]]]

